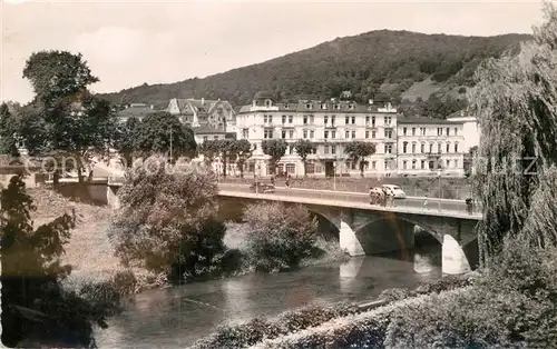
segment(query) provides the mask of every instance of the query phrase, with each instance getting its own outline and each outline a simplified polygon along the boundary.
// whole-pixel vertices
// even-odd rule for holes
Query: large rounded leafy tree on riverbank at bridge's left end
[[[110,225],[117,256],[176,278],[213,272],[224,252],[217,192],[216,177],[201,167],[172,167],[157,156],[134,166]]]

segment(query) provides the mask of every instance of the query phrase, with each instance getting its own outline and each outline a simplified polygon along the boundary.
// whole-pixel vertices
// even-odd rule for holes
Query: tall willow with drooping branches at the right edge
[[[535,223],[555,210],[550,196],[557,162],[557,11],[545,4],[546,22],[518,54],[485,61],[470,92],[481,129],[475,191],[483,203],[478,225],[482,266],[500,252],[506,237],[538,247],[555,245],[556,222]],[[553,188],[548,190],[548,188]]]

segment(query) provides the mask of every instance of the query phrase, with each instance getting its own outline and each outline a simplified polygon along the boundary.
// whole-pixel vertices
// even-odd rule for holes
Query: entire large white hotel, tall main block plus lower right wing
[[[268,156],[262,142],[284,139],[286,154],[278,171],[292,176],[304,173],[304,166],[293,144],[307,139],[316,146],[306,167],[311,177],[358,176],[359,168],[348,159],[344,146],[352,141],[373,142],[364,176],[463,176],[465,149],[461,121],[407,119],[389,102],[303,100],[275,102],[266,92],[257,92],[252,104],[236,114],[237,139],[247,139],[254,147],[247,172],[270,176]],[[334,173],[334,174],[333,174]]]

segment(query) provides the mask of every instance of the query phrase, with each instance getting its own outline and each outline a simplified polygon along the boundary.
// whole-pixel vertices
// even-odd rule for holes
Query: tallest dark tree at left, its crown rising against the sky
[[[20,134],[29,152],[53,157],[55,183],[61,170],[81,169],[94,152],[105,152],[116,116],[108,101],[92,96],[87,87],[98,81],[81,54],[66,51],[41,51],[27,60],[23,77],[29,79],[36,97],[27,109]],[[33,113],[29,116],[29,113]],[[29,133],[31,130],[38,131]],[[71,162],[65,161],[71,157]]]

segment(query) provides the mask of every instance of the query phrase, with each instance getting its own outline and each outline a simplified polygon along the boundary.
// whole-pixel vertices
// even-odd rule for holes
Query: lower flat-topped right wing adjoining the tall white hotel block
[[[463,122],[399,118],[397,136],[399,176],[465,174]]]

